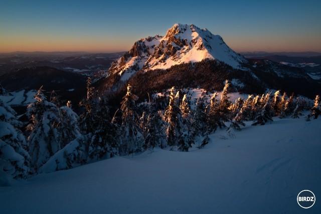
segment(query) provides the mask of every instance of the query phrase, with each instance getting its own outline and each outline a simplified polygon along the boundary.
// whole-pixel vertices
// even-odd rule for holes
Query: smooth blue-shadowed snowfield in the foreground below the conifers
[[[154,149],[0,187],[0,212],[321,213],[321,118],[273,119],[234,138],[219,130],[203,149]],[[316,197],[309,209],[296,201],[304,189]]]

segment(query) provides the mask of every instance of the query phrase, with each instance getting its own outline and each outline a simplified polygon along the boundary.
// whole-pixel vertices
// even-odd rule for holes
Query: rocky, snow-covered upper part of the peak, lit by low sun
[[[109,69],[126,81],[139,69],[168,69],[173,65],[216,59],[242,69],[244,57],[230,49],[222,37],[195,25],[175,24],[165,37],[156,35],[141,39]]]

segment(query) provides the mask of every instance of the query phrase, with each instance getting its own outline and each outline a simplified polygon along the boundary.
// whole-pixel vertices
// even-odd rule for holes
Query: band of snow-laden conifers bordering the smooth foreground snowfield
[[[79,103],[83,112],[78,116],[71,102],[62,105],[54,92],[47,100],[41,87],[36,102],[27,108],[30,122],[25,130],[15,111],[0,100],[0,181],[6,184],[11,178],[69,169],[115,155],[152,152],[154,147],[187,152],[193,145],[208,144],[209,135],[217,129],[226,128],[233,136],[245,121],[264,125],[275,116],[298,118],[310,109],[309,120],[320,113],[319,96],[312,102],[276,91],[233,103],[230,88],[226,80],[220,97],[214,93],[208,104],[199,98],[191,109],[187,94],[172,87],[165,109],[160,109],[155,100],[137,102],[128,84],[120,109],[114,113],[88,78],[86,97]]]

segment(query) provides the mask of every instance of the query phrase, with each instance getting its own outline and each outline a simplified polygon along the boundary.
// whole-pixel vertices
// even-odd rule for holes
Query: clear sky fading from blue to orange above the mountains
[[[321,52],[320,10],[320,0],[1,0],[0,53],[127,51],[175,23],[207,28],[237,52]]]

